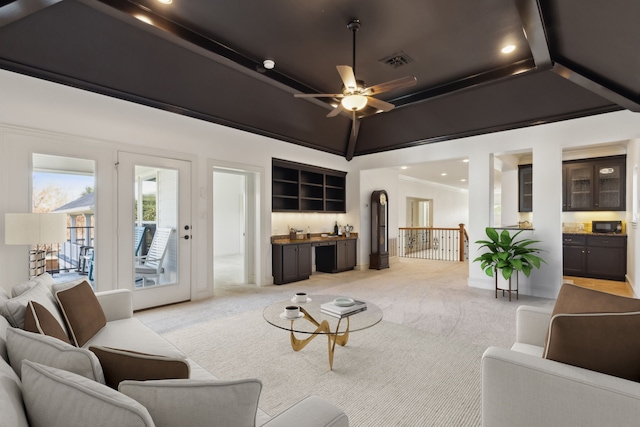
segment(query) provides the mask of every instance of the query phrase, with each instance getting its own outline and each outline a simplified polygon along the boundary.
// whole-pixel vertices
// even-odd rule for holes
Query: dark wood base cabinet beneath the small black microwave
[[[564,234],[562,255],[565,276],[625,280],[627,236]]]

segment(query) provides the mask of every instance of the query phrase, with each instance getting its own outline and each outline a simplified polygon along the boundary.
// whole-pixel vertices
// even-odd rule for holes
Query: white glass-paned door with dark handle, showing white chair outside
[[[191,298],[191,163],[118,153],[118,287],[134,309]]]

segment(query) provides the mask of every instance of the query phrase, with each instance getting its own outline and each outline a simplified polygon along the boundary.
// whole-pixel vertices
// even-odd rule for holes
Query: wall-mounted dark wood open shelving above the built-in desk
[[[273,212],[346,212],[346,172],[272,160]]]

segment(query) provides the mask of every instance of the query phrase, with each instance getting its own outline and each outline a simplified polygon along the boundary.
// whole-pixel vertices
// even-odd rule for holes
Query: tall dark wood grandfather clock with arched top
[[[389,199],[384,190],[371,193],[371,255],[369,268],[389,268]]]

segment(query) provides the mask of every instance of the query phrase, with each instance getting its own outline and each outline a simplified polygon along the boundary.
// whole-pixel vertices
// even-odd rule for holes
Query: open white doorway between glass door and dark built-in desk
[[[215,166],[212,179],[214,288],[256,283],[259,176]]]

